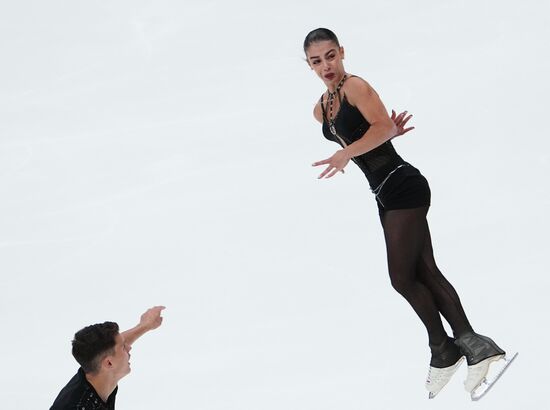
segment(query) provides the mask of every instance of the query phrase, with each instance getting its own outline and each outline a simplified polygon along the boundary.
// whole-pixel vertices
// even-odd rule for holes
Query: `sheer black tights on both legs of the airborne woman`
[[[412,306],[428,330],[429,343],[447,334],[439,313],[455,337],[472,331],[458,294],[435,264],[426,215],[429,207],[383,211],[380,215],[392,286]]]

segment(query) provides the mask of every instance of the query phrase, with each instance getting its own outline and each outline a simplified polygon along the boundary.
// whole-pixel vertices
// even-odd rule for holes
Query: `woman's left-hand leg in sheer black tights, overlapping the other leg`
[[[417,267],[429,238],[428,207],[384,211],[380,215],[386,239],[388,269],[392,286],[412,306],[428,331],[430,345],[441,345],[447,334],[437,302],[418,278]]]

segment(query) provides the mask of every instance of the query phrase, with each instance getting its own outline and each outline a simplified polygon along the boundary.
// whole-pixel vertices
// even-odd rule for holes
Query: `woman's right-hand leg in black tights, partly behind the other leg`
[[[443,276],[435,263],[428,222],[425,221],[426,239],[417,265],[418,279],[430,290],[438,310],[453,329],[456,338],[473,332],[472,326],[460,303],[456,290]]]

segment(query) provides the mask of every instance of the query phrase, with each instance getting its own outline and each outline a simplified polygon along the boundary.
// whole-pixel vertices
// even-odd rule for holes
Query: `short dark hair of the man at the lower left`
[[[118,331],[118,324],[115,322],[104,322],[87,326],[75,333],[72,353],[85,373],[99,370],[101,360],[116,345]]]

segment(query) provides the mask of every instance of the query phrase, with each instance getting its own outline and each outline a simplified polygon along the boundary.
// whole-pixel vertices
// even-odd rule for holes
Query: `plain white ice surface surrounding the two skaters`
[[[0,407],[49,408],[70,340],[165,304],[118,409],[542,409],[547,1],[2,1]],[[388,279],[360,171],[330,156],[303,61],[329,27],[427,176],[436,259],[520,352],[483,401],[427,400],[425,330]],[[548,408],[548,407],[546,407]]]

